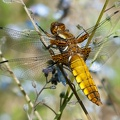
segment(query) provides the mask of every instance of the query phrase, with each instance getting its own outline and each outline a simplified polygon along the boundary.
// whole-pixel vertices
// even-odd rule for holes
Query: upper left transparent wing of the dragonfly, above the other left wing
[[[10,49],[29,54],[45,52],[44,46],[40,41],[40,36],[34,30],[17,31],[0,27],[0,37],[5,37],[2,52],[6,52]],[[45,42],[49,44],[49,39],[45,35],[41,37],[45,38]]]

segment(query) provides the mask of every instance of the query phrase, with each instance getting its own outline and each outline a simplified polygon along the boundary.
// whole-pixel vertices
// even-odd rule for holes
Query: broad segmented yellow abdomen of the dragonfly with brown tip
[[[80,57],[78,54],[73,55],[70,59],[70,67],[83,93],[93,103],[95,103],[96,105],[101,105],[102,102],[100,100],[98,89],[83,58]]]

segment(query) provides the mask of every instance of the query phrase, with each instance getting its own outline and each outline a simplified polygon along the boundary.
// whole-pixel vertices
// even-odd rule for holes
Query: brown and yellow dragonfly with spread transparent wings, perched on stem
[[[111,14],[109,16],[110,21],[118,13],[119,11],[116,11]],[[116,38],[119,39],[120,37],[110,33],[102,40],[93,39],[88,47],[85,47],[85,43],[94,29],[97,29],[98,31],[96,33],[97,35],[99,34],[99,30],[102,27],[104,28],[105,24],[109,24],[110,21],[105,19],[99,23],[96,28],[93,26],[89,29],[83,30],[83,32],[77,37],[75,37],[66,28],[64,23],[51,23],[51,34],[42,29],[41,26],[38,26],[44,33],[44,35],[41,35],[41,37],[43,37],[45,42],[48,44],[48,46],[45,48],[39,40],[40,36],[34,31],[17,31],[0,27],[0,36],[5,36],[8,39],[6,44],[11,46],[12,49],[29,52],[30,54],[35,54],[38,51],[40,52],[40,54],[37,56],[28,56],[27,58],[8,59],[1,61],[0,68],[2,71],[5,71],[5,63],[17,64],[17,66],[23,65],[27,67],[27,70],[22,72],[22,77],[32,76],[33,78],[37,78],[36,73],[39,75],[40,71],[43,71],[45,76],[48,76],[49,73],[52,73],[51,81],[53,84],[57,84],[57,82],[54,81],[57,79],[57,81],[62,81],[62,83],[65,85],[65,80],[62,80],[64,79],[64,76],[62,76],[60,70],[55,65],[60,64],[63,67],[66,66],[75,77],[76,82],[85,96],[87,96],[91,102],[100,106],[102,104],[100,94],[89,72],[86,62],[87,60],[90,60],[90,63],[99,61],[100,63],[104,64],[105,61],[119,48],[119,45],[117,45],[114,40]],[[10,39],[12,39],[13,43],[10,41]],[[110,52],[111,47],[112,51]],[[6,48],[7,47],[4,47],[4,50]],[[36,52],[34,53],[33,51]],[[98,52],[97,55],[96,52]],[[91,59],[93,57],[94,59]],[[44,66],[47,67],[43,69]],[[59,77],[59,75],[61,77]]]

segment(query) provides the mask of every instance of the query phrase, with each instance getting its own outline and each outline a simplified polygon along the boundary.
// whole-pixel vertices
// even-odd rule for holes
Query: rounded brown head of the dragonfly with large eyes
[[[59,31],[65,31],[65,25],[63,23],[53,22],[51,23],[50,30],[53,35],[57,35]]]

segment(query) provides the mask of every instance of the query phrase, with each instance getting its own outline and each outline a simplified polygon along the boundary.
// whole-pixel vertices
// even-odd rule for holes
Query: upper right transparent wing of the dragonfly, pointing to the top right
[[[94,30],[96,30],[95,34],[94,34],[94,38],[98,37],[98,36],[107,36],[108,34],[110,34],[111,32],[115,32],[115,29],[120,29],[119,28],[119,20],[120,20],[120,15],[119,15],[120,11],[115,11],[114,13],[112,13],[110,16],[107,16],[106,19],[104,19],[103,21],[101,21],[97,26],[92,26],[88,29],[85,29],[83,32],[81,32],[78,36],[80,37],[81,35],[84,35],[86,33],[88,33],[89,35],[92,34],[92,32],[94,32]],[[79,25],[78,25],[79,26]],[[82,29],[82,28],[81,28]],[[87,40],[86,40],[87,41]]]

